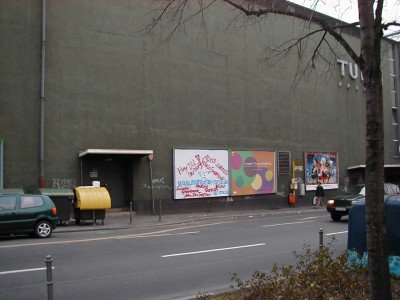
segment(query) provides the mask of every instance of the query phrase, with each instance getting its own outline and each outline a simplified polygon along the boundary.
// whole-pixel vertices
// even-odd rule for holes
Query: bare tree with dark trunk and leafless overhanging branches
[[[172,27],[167,39],[195,17],[200,17],[204,23],[204,14],[214,5],[222,3],[236,12],[232,21],[239,17],[263,18],[269,14],[278,14],[316,25],[310,26],[302,36],[297,36],[277,47],[280,49],[278,55],[286,55],[295,50],[301,57],[302,42],[311,36],[318,36],[319,42],[316,43],[303,72],[298,74],[314,68],[316,59],[322,56],[320,47],[323,44],[330,47],[327,36],[333,37],[358,65],[364,77],[366,103],[366,230],[370,292],[372,299],[391,299],[383,202],[384,132],[381,41],[384,29],[389,26],[399,26],[399,24],[396,22],[385,24],[382,21],[384,0],[358,0],[359,21],[353,24],[320,17],[312,10],[294,10],[290,2],[283,0],[155,0],[155,3],[158,5],[158,10],[148,30],[152,31],[160,23],[168,22],[172,24]],[[342,35],[344,28],[356,26],[359,27],[360,32],[360,49],[352,48]]]

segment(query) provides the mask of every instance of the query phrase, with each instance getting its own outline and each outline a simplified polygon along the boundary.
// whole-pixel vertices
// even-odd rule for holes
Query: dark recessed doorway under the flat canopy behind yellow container
[[[86,157],[82,161],[82,184],[92,185],[99,181],[110,193],[111,206],[126,207],[129,203],[132,172],[131,159],[128,157],[97,155]]]

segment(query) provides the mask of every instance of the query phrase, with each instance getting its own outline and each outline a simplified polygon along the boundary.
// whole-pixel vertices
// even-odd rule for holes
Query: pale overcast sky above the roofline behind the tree
[[[332,16],[348,23],[358,21],[358,7],[356,0],[289,0],[305,7],[313,7],[316,11]],[[400,1],[385,0],[383,19],[386,22],[400,20]],[[316,7],[315,7],[316,5]],[[391,32],[399,31],[400,27],[393,27]],[[388,34],[386,31],[385,34]]]

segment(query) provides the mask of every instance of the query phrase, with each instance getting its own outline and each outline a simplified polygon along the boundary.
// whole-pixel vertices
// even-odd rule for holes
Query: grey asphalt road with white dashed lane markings
[[[95,232],[55,232],[38,240],[0,239],[0,299],[46,299],[46,255],[53,258],[54,299],[190,299],[229,288],[293,251],[317,249],[319,229],[346,249],[347,220],[325,210]]]

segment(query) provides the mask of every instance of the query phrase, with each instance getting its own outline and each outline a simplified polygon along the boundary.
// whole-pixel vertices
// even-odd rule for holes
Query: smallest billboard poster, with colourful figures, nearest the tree
[[[339,188],[339,162],[337,152],[305,152],[306,190],[316,190],[318,182],[324,189]]]

